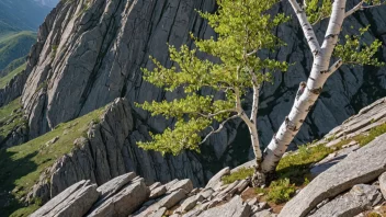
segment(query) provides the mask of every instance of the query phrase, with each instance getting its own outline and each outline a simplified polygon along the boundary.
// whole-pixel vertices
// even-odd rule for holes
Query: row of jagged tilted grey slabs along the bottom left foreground
[[[120,175],[98,189],[95,184],[90,185],[90,181],[75,183],[52,198],[32,216],[54,216],[56,214],[60,216],[61,214],[67,214],[68,217],[120,217],[127,215],[135,217],[162,217],[168,212],[167,215],[173,213],[178,217],[204,217],[219,214],[227,217],[249,217],[257,213],[257,206],[243,202],[239,196],[240,192],[230,191],[234,193],[228,194],[229,197],[220,198],[223,197],[219,194],[220,191],[193,189],[190,180],[173,180],[163,185],[155,183],[147,186],[143,178],[135,176],[135,173],[130,172]],[[157,187],[168,189],[168,192],[156,198],[150,198],[150,192]],[[84,192],[92,194],[87,197],[86,195],[88,194]],[[211,193],[208,194],[208,192]],[[194,201],[193,205],[192,201]],[[80,209],[79,205],[75,206],[76,203],[84,206]],[[263,208],[265,208],[266,214],[271,214],[266,209],[268,207],[262,207],[259,212]],[[60,210],[60,213],[57,210]]]

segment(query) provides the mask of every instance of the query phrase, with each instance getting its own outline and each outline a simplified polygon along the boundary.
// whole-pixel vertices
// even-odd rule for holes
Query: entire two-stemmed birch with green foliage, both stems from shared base
[[[143,69],[144,79],[167,91],[182,90],[184,94],[173,101],[137,104],[152,115],[175,121],[163,133],[150,134],[150,141],[138,145],[162,153],[178,155],[184,149],[200,151],[200,145],[223,130],[227,122],[240,118],[248,126],[256,157],[253,185],[265,184],[266,175],[274,172],[327,79],[343,64],[381,65],[373,58],[381,46],[379,41],[370,45],[361,43],[361,35],[366,28],[359,30],[357,35],[339,37],[347,16],[381,5],[381,1],[360,1],[350,10],[345,9],[347,0],[334,0],[333,3],[330,0],[288,2],[299,21],[314,64],[308,80],[299,84],[291,113],[263,152],[257,126],[261,84],[271,82],[273,72],[288,68],[287,62],[261,58],[262,53],[285,46],[274,35],[274,30],[290,16],[268,12],[279,0],[218,0],[219,8],[214,14],[198,12],[217,33],[216,38],[201,39],[191,35],[195,48],[169,46],[170,67],[151,58],[155,67]],[[320,45],[313,24],[325,19],[329,22]],[[200,53],[216,57],[218,61],[198,58]],[[213,90],[213,93],[203,94],[205,89]],[[252,107],[242,103],[249,91],[252,93]]]

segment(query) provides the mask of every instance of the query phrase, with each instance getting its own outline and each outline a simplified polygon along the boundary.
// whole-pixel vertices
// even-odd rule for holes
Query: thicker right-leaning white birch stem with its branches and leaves
[[[305,41],[313,54],[314,62],[306,82],[300,82],[298,92],[288,116],[273,135],[264,150],[261,164],[263,174],[273,173],[282,156],[302,127],[309,111],[319,98],[327,79],[343,64],[382,66],[374,55],[382,43],[375,39],[371,45],[361,43],[361,36],[368,26],[359,30],[357,35],[345,35],[340,38],[344,20],[353,13],[384,4],[376,0],[360,1],[354,8],[347,10],[347,0],[306,0],[300,7],[296,0],[288,0],[302,26]],[[311,23],[329,19],[321,45],[316,37]]]

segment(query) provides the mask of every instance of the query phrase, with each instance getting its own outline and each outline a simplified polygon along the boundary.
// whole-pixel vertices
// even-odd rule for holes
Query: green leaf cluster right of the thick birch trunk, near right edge
[[[385,66],[385,62],[381,62],[374,58],[375,54],[382,46],[379,39],[375,39],[372,44],[367,45],[363,43],[363,35],[368,31],[370,25],[360,28],[359,35],[345,35],[344,44],[338,44],[333,50],[333,56],[339,57],[344,64],[352,65],[372,65],[372,66]]]

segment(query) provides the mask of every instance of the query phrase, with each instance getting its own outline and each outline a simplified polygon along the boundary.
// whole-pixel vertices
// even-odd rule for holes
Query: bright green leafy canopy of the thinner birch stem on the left
[[[150,134],[151,141],[139,142],[141,148],[173,155],[183,149],[198,151],[205,133],[208,134],[211,128],[215,132],[214,123],[224,124],[229,118],[239,117],[242,108],[238,105],[248,90],[271,81],[273,71],[287,69],[286,62],[259,58],[260,53],[284,44],[273,31],[288,18],[266,12],[277,2],[218,0],[216,13],[198,12],[217,33],[216,38],[200,39],[191,34],[196,48],[169,46],[171,68],[150,57],[155,68],[143,69],[145,80],[167,91],[182,89],[184,96],[171,102],[137,104],[152,115],[175,118],[175,124],[163,134]],[[216,57],[218,61],[198,58],[200,53]],[[213,93],[203,95],[205,88],[214,90]],[[215,98],[216,93],[224,96]]]

